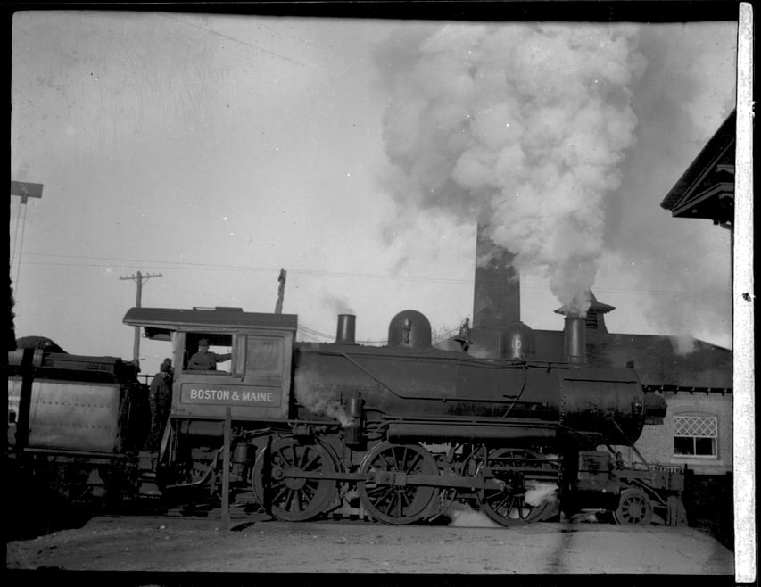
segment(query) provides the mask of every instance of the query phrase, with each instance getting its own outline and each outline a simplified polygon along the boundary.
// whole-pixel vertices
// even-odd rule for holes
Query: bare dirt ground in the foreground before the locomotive
[[[227,530],[219,511],[205,518],[95,517],[81,528],[7,542],[6,548],[6,566],[21,574],[21,583],[37,575],[29,571],[51,569],[115,576],[655,573],[719,579],[733,573],[732,551],[692,528],[570,521],[504,528],[476,512],[438,526],[288,524],[236,514]]]

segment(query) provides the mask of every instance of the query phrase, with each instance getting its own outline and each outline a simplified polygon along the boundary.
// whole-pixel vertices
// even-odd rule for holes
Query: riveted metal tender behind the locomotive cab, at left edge
[[[53,490],[69,504],[106,492],[119,500],[150,420],[136,365],[26,348],[8,353],[7,369],[14,489]]]

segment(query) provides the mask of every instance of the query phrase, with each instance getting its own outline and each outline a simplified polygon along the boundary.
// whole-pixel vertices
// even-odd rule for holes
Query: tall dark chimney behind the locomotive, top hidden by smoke
[[[512,266],[514,257],[507,249],[494,244],[484,234],[484,227],[478,224],[474,327],[500,329],[520,320],[520,276]]]

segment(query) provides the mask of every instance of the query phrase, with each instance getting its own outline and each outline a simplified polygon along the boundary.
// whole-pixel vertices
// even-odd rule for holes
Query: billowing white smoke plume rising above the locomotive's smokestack
[[[402,209],[480,219],[516,253],[517,269],[543,269],[558,300],[585,313],[589,300],[578,294],[594,283],[604,199],[634,143],[630,87],[644,69],[637,29],[424,30],[379,53],[392,88],[387,186]]]

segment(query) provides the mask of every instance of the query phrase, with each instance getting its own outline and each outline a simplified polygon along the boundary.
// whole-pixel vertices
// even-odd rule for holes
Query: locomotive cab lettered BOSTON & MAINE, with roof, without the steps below
[[[172,343],[171,418],[222,420],[227,408],[235,420],[288,418],[296,316],[133,308],[124,323]],[[202,342],[215,355],[216,368],[191,360]]]

